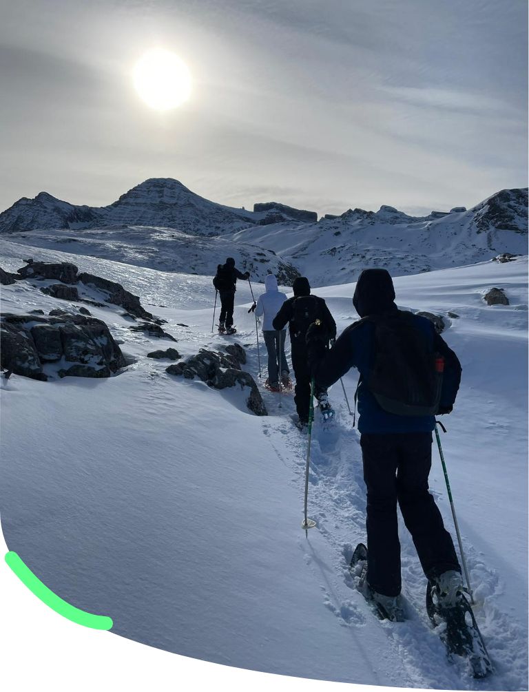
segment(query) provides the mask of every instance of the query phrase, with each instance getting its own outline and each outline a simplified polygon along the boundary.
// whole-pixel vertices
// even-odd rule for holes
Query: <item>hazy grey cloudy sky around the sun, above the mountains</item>
[[[175,178],[246,209],[471,207],[527,185],[525,0],[0,0],[0,210]],[[132,83],[174,51],[190,99]]]

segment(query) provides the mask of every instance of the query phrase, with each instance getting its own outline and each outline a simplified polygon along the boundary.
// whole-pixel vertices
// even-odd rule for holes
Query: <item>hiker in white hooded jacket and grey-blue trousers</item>
[[[289,378],[289,367],[285,356],[285,337],[287,330],[280,331],[272,327],[272,320],[277,315],[287,296],[278,289],[278,282],[273,274],[264,277],[266,291],[262,293],[252,309],[258,317],[263,317],[262,336],[268,352],[268,381],[273,392],[280,391],[279,378],[284,387],[292,385]]]

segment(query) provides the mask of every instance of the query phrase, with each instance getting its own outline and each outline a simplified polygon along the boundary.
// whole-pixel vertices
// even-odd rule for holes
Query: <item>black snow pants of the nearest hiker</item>
[[[428,491],[431,432],[362,434],[367,486],[368,573],[371,588],[400,594],[397,502],[427,578],[461,571],[451,536]]]

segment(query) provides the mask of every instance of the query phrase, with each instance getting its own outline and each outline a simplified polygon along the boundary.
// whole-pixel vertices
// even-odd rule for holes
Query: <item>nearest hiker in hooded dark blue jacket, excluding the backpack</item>
[[[459,388],[461,366],[456,354],[436,333],[427,318],[400,313],[395,290],[385,269],[366,269],[357,282],[353,304],[361,318],[407,316],[429,343],[432,352],[445,360],[438,413],[451,411]],[[368,569],[365,596],[382,604],[391,619],[402,619],[400,599],[400,543],[397,503],[410,531],[424,574],[438,583],[447,605],[454,605],[462,588],[461,568],[454,543],[429,493],[433,415],[396,415],[382,408],[368,388],[375,359],[376,321],[360,320],[347,327],[325,351],[327,336],[321,327],[307,331],[307,350],[316,383],[330,387],[351,367],[360,372],[358,393],[360,445],[367,487],[366,531]]]

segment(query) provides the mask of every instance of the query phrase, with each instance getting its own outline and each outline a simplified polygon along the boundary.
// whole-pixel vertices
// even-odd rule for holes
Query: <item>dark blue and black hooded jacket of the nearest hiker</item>
[[[359,276],[353,304],[359,316],[396,313],[395,289],[391,276],[385,269],[365,269]],[[461,366],[456,354],[437,334],[427,318],[413,315],[416,326],[427,337],[431,349],[445,357],[446,395],[455,399],[459,386]],[[307,338],[310,363],[313,367],[316,384],[327,388],[337,382],[351,367],[360,373],[358,387],[358,430],[361,433],[388,434],[394,432],[431,432],[435,426],[433,416],[398,416],[382,409],[374,395],[366,386],[366,378],[373,368],[375,323],[360,320],[343,330],[334,347],[328,352],[319,352],[316,341]],[[445,392],[445,384],[443,384]],[[445,402],[441,400],[441,406]]]

